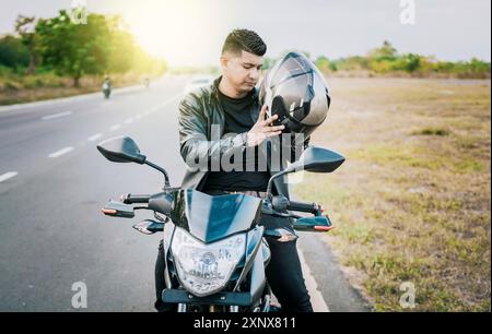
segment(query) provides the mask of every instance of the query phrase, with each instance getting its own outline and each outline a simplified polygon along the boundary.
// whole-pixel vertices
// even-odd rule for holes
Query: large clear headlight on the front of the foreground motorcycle
[[[206,244],[176,228],[171,249],[179,282],[197,297],[221,290],[245,253],[245,241],[239,234]]]

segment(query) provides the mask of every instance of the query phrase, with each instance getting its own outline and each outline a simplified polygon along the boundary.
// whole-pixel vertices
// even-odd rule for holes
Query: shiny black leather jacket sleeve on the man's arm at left
[[[204,103],[195,93],[187,94],[179,104],[180,154],[188,166],[199,168],[220,164],[222,155],[242,153],[247,144],[247,132],[221,138],[220,124],[210,124],[211,129],[208,129],[204,108]]]

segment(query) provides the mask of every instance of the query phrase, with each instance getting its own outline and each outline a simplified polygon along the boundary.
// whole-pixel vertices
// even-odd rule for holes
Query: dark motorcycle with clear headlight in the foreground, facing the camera
[[[265,274],[270,260],[265,238],[288,241],[297,238],[297,230],[333,228],[319,204],[272,194],[272,181],[283,175],[336,170],[344,157],[330,150],[308,146],[297,162],[270,178],[265,199],[242,193],[213,196],[171,187],[166,170],[148,160],[128,136],[106,140],[97,150],[110,162],[148,165],[164,176],[161,192],[124,194],[119,201],[109,200],[102,212],[121,218],[133,218],[136,210],[154,212],[155,219],[133,228],[144,235],[163,232],[166,288],[162,299],[175,303],[178,312],[273,311]],[[266,229],[259,224],[261,214],[290,218],[292,228]]]

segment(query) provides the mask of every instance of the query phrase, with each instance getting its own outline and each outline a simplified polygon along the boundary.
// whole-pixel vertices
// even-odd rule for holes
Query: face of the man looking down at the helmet
[[[222,74],[241,93],[250,92],[261,74],[263,57],[241,51],[239,55],[225,53],[221,57]]]

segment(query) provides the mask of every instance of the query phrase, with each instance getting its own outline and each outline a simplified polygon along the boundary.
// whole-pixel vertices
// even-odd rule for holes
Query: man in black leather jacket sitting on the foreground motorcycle
[[[188,169],[181,188],[192,188],[211,195],[242,192],[265,198],[268,180],[278,170],[259,167],[263,142],[278,136],[283,126],[273,126],[277,115],[266,118],[255,88],[261,73],[262,56],[267,46],[262,39],[248,29],[235,29],[225,39],[220,63],[222,75],[204,88],[187,94],[179,106],[180,154],[188,166],[206,158],[207,168]],[[213,130],[219,129],[219,138]],[[291,146],[292,147],[292,146]],[[254,162],[247,150],[254,150]],[[224,166],[211,168],[214,159],[223,156],[243,155],[243,164],[233,170]],[[234,158],[237,157],[234,156]],[[251,168],[248,166],[255,167]],[[203,166],[201,166],[203,167]],[[274,182],[274,193],[289,196],[284,179]],[[285,227],[284,218],[263,215],[267,228]],[[309,295],[304,284],[295,239],[279,241],[267,238],[271,260],[267,266],[267,279],[282,310],[291,312],[313,311]],[[164,254],[160,247],[155,269],[157,310],[171,309],[162,302],[164,284]]]

